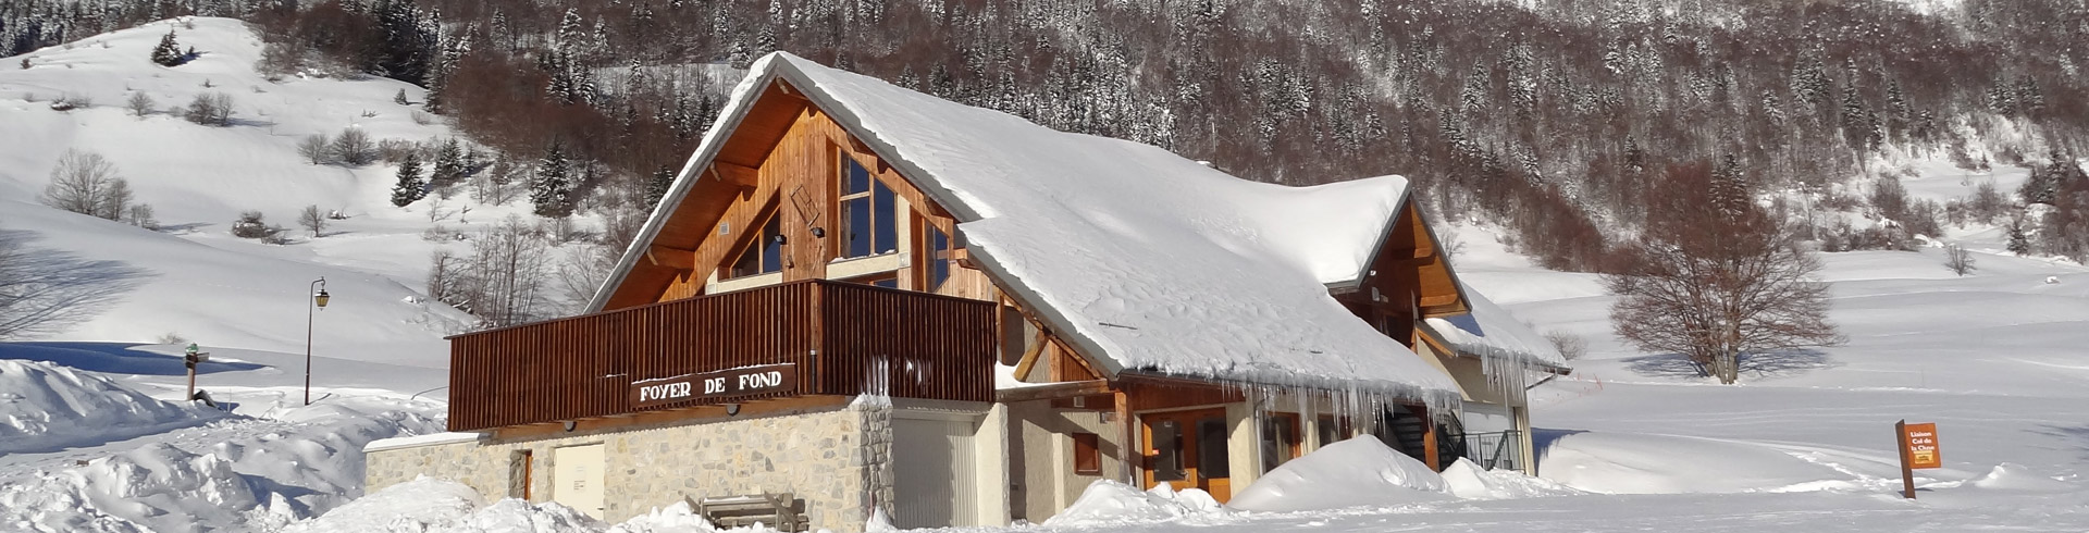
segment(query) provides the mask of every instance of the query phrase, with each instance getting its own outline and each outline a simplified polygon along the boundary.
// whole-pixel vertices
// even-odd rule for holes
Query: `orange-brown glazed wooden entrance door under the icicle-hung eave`
[[[1147,489],[1170,483],[1203,489],[1220,504],[1233,497],[1226,410],[1153,412],[1139,420],[1147,437]]]

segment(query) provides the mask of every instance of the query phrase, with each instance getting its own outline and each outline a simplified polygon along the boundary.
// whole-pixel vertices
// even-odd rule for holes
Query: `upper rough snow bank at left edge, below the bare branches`
[[[0,360],[0,456],[121,441],[224,416],[201,403],[152,399],[98,374]]]

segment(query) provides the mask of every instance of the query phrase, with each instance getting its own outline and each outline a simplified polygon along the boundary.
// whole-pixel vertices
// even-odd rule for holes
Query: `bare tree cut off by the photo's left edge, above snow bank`
[[[58,332],[130,293],[146,272],[29,247],[29,232],[0,230],[0,339]]]

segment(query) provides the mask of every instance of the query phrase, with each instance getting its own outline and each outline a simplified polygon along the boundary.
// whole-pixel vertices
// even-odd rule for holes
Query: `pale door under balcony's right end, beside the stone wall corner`
[[[980,489],[971,454],[971,422],[892,420],[892,525],[978,525]]]

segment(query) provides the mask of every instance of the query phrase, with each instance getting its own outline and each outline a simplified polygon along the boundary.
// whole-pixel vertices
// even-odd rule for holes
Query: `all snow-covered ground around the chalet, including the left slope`
[[[386,203],[393,169],[307,165],[307,134],[449,136],[418,123],[386,79],[267,82],[236,21],[196,19],[180,40],[203,56],[146,63],[169,23],[40,50],[0,65],[0,230],[109,268],[125,284],[107,309],[33,343],[0,345],[0,531],[706,531],[685,508],[604,525],[556,504],[478,502],[441,481],[361,493],[361,445],[441,431],[443,334],[468,320],[420,295],[428,205]],[[209,79],[211,88],[205,88]],[[221,90],[240,123],[132,117]],[[94,107],[52,111],[56,94]],[[36,203],[65,148],[113,159],[167,228],[148,232]],[[2012,190],[2022,171],[1964,176],[1918,163],[1911,196]],[[341,209],[328,236],[272,247],[226,234],[261,209],[290,226],[303,205]],[[462,207],[453,201],[447,209]],[[474,205],[470,224],[520,205]],[[1540,330],[1590,341],[1575,376],[1540,385],[1540,479],[1418,474],[1370,449],[1316,456],[1247,487],[1237,510],[1191,491],[1099,485],[1049,531],[2089,531],[2089,270],[2010,257],[1995,228],[1953,228],[1978,270],[1953,276],[1937,249],[1830,253],[1834,320],[1849,343],[1759,357],[1742,385],[1690,376],[1609,332],[1594,276],[1531,268],[1485,228],[1464,242],[1466,282]],[[315,314],[313,405],[303,405],[307,284]],[[228,410],[173,403],[180,347],[213,353],[198,385]],[[1937,422],[1945,468],[1897,495],[1893,422]],[[1331,447],[1331,451],[1335,451]],[[1341,510],[1295,510],[1333,495]],[[1289,497],[1287,497],[1289,495]],[[361,500],[357,500],[361,497]],[[1260,504],[1255,504],[1260,502]],[[324,516],[322,516],[324,514]],[[318,518],[313,518],[318,516]]]

